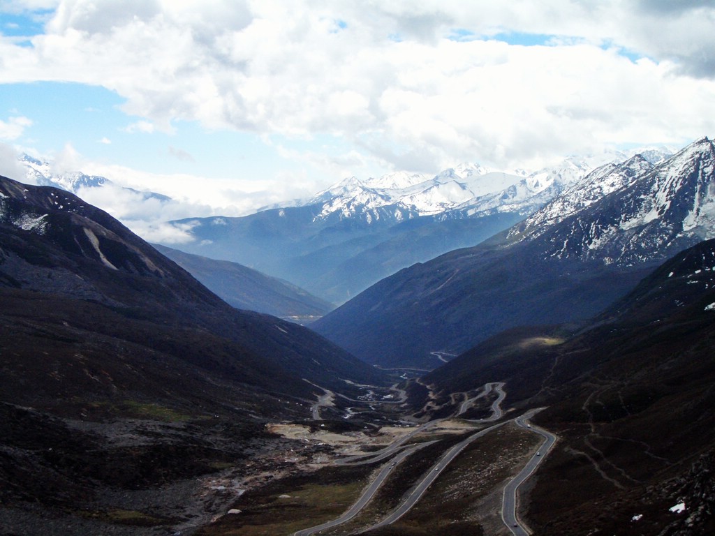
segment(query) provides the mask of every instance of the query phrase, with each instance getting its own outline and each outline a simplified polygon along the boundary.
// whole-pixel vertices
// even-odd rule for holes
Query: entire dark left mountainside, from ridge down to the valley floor
[[[309,420],[323,386],[383,381],[230,307],[73,194],[4,178],[0,304],[4,534],[192,532],[245,480],[291,470],[286,452],[310,460],[269,420]]]

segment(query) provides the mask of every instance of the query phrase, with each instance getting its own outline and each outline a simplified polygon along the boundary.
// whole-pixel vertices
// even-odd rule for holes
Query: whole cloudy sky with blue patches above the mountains
[[[0,0],[0,174],[27,153],[173,197],[155,222],[714,121],[714,0]]]

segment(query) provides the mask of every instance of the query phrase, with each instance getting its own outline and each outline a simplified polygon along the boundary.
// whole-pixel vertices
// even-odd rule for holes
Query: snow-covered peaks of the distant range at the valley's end
[[[659,162],[671,153],[665,148],[644,149],[644,161]],[[618,164],[624,152],[609,151],[586,157],[568,157],[551,167],[528,174],[503,172],[475,163],[445,169],[427,179],[420,174],[396,172],[383,177],[343,179],[314,197],[290,204],[320,204],[317,219],[331,217],[365,219],[380,217],[396,222],[423,216],[450,218],[511,212],[526,216],[543,207],[588,172],[603,164]],[[287,204],[285,205],[287,206]]]

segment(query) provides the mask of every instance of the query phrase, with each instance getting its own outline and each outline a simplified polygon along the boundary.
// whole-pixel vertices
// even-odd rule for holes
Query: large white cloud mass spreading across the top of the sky
[[[106,86],[142,118],[127,131],[200,121],[329,134],[385,168],[509,166],[712,131],[710,4],[64,0],[32,47],[0,40],[0,79]],[[501,34],[551,45],[485,40]]]

